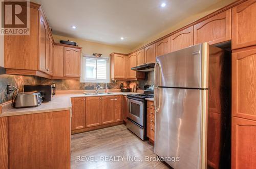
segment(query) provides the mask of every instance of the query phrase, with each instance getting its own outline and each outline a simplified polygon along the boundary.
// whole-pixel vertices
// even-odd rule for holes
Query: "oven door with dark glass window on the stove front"
[[[127,117],[144,127],[144,101],[128,99],[129,111]]]

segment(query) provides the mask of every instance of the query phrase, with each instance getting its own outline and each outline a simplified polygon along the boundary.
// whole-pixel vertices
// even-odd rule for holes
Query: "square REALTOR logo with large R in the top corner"
[[[29,1],[1,2],[1,35],[29,35]]]

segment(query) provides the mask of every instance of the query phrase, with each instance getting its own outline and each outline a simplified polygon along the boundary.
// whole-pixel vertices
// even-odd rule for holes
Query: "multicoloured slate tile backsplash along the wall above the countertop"
[[[132,81],[138,84],[140,89],[144,85],[154,84],[154,71],[146,73],[145,80]],[[12,93],[7,94],[7,84],[16,86],[19,92],[23,92],[24,85],[40,85],[40,84],[56,84],[56,90],[93,90],[97,85],[105,88],[105,83],[80,83],[79,80],[51,80],[39,78],[35,76],[20,76],[20,75],[0,75],[0,104],[11,100]],[[129,81],[111,81],[107,83],[109,89],[119,89],[120,84],[129,85]]]

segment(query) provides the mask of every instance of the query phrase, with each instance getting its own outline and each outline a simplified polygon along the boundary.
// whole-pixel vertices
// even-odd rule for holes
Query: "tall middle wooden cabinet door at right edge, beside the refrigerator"
[[[232,115],[256,120],[256,47],[232,53]]]

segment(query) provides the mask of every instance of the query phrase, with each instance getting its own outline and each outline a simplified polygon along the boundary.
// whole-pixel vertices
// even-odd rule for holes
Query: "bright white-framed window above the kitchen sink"
[[[81,82],[110,82],[109,58],[96,58],[94,56],[84,56],[82,58],[81,68]]]

